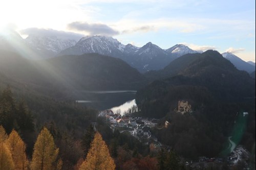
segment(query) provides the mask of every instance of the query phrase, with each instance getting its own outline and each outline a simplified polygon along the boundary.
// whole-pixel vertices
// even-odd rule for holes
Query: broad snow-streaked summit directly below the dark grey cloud
[[[81,38],[74,46],[62,51],[60,55],[81,55],[84,53],[98,53],[119,58],[125,45],[112,37],[92,36]]]

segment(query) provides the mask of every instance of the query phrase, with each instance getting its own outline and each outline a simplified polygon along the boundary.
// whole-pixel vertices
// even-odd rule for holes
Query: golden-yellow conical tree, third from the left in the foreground
[[[58,152],[51,133],[47,128],[42,129],[34,145],[31,170],[56,169]]]

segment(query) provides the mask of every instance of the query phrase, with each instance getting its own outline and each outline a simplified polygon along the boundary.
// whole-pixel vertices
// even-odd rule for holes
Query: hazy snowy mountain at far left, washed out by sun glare
[[[60,40],[57,37],[32,35],[23,39],[12,30],[6,30],[3,34],[0,34],[0,50],[15,52],[32,60],[54,57],[58,52],[74,45],[74,43],[74,40]]]

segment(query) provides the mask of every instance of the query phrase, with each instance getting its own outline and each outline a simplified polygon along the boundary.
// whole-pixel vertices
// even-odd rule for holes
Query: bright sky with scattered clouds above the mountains
[[[255,0],[1,0],[0,28],[231,52],[255,62]]]

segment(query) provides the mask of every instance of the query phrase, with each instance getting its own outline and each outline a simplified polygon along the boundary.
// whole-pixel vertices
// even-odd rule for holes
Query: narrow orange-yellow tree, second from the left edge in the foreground
[[[12,154],[15,169],[27,170],[29,163],[26,155],[26,144],[22,138],[15,130],[12,130],[6,142]]]

